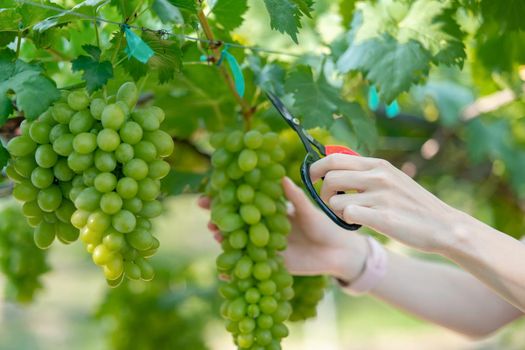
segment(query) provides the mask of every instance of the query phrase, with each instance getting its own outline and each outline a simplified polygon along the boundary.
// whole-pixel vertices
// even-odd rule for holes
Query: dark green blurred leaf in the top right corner
[[[485,19],[498,22],[503,31],[505,29],[525,30],[525,22],[523,21],[525,3],[523,0],[483,0],[481,12]]]

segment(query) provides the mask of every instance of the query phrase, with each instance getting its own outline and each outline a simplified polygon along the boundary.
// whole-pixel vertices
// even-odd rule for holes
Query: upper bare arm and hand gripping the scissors
[[[325,178],[321,195],[346,221],[454,261],[525,311],[525,245],[516,239],[450,207],[382,159],[332,155],[311,174]],[[358,192],[335,195],[341,190]]]

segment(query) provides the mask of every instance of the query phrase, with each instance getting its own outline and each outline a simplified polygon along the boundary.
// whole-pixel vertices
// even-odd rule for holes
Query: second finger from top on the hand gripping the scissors
[[[338,191],[357,190],[360,192],[368,188],[368,172],[331,170],[326,173],[323,187],[321,188],[321,199],[328,203],[330,197]]]

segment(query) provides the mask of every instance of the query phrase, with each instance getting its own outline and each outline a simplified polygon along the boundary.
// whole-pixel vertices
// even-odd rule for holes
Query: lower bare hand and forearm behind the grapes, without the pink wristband
[[[296,274],[325,273],[354,279],[367,254],[364,237],[333,224],[293,183],[286,181],[284,185],[295,207],[289,248],[284,253],[287,267]],[[371,295],[419,318],[481,337],[522,315],[458,267],[392,252],[388,255],[387,274]]]

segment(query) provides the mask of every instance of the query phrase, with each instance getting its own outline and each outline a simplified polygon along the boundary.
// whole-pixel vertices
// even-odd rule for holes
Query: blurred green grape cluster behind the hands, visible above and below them
[[[324,129],[309,131],[316,140],[323,144],[335,143],[330,133]],[[286,173],[295,182],[301,183],[299,169],[304,159],[304,147],[297,134],[290,129],[281,132],[279,139],[286,153],[284,164]],[[294,276],[294,298],[291,300],[292,315],[290,321],[303,321],[317,315],[317,304],[324,296],[327,287],[325,276]]]

